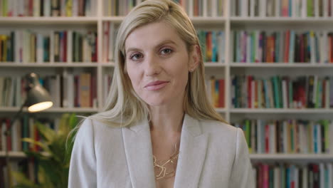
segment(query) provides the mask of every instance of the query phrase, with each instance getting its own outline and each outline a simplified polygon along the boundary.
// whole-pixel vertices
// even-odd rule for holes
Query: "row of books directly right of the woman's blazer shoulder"
[[[243,120],[233,123],[250,153],[332,153],[332,120]]]

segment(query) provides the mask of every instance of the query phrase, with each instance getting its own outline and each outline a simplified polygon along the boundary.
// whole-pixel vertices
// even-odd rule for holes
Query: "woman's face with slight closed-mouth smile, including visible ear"
[[[136,28],[127,36],[125,51],[129,79],[142,100],[151,106],[182,103],[196,57],[174,28],[164,22]]]

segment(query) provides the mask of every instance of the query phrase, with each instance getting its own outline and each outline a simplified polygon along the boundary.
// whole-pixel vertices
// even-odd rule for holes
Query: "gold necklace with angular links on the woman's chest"
[[[162,164],[157,164],[156,157],[153,155],[155,179],[174,177],[174,175],[176,174],[176,162],[179,156],[179,151],[177,150],[176,145],[177,143],[174,145],[174,154],[171,155],[169,160],[166,160],[166,162],[162,162]],[[171,170],[168,170],[168,166],[171,166]]]

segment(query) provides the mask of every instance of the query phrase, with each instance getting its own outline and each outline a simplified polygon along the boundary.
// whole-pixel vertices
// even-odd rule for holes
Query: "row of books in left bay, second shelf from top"
[[[0,62],[97,62],[93,31],[10,31],[0,35]]]

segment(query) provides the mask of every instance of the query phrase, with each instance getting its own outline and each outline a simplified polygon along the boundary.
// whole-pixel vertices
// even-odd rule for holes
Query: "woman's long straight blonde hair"
[[[199,46],[196,30],[181,6],[169,0],[148,0],[135,6],[122,21],[117,33],[115,71],[107,101],[103,111],[91,115],[91,119],[115,127],[125,127],[149,117],[148,105],[134,92],[125,71],[125,41],[134,29],[159,21],[175,28],[186,43],[188,53],[194,50],[195,45]],[[194,72],[189,73],[184,96],[184,112],[197,119],[226,122],[216,113],[207,98],[201,50],[199,66]]]

